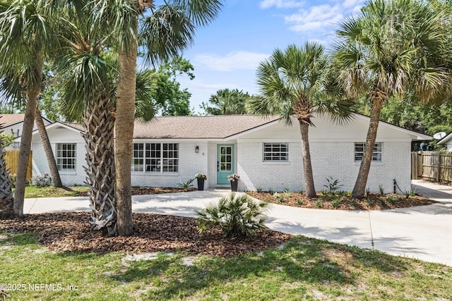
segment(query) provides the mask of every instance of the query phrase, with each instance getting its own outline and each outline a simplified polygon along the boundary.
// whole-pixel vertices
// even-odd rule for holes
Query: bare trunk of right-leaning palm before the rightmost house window
[[[355,188],[352,191],[352,197],[362,199],[366,192],[367,178],[369,177],[370,166],[372,162],[372,154],[374,154],[374,145],[376,141],[376,133],[379,128],[381,107],[383,106],[383,97],[381,92],[375,92],[376,96],[372,97],[372,108],[369,122],[369,130],[367,130],[366,147],[359,166],[358,177],[355,182]]]

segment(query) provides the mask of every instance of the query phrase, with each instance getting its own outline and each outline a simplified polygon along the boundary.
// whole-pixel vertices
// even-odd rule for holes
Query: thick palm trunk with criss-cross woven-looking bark
[[[114,197],[114,118],[109,98],[99,93],[83,116],[86,142],[86,184],[90,188],[90,223],[95,230],[112,236],[117,234],[117,210]]]

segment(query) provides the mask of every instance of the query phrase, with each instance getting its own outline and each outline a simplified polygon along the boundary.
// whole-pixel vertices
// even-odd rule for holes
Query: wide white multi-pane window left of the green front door
[[[133,143],[132,171],[179,171],[177,143]]]

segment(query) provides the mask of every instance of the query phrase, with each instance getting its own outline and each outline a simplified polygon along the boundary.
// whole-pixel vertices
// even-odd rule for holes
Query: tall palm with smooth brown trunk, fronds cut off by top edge
[[[131,235],[131,158],[138,41],[148,62],[167,61],[193,42],[197,26],[207,25],[220,11],[221,0],[154,0],[97,2],[97,22],[109,22],[119,53],[115,123],[119,235]],[[138,23],[141,24],[138,30]],[[139,35],[138,35],[139,34]]]

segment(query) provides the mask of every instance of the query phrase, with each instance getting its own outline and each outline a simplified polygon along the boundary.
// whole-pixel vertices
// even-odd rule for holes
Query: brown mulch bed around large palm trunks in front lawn
[[[23,219],[0,220],[6,233],[35,232],[37,242],[57,252],[126,253],[177,252],[234,257],[282,245],[292,235],[262,231],[252,240],[225,238],[219,230],[198,234],[196,220],[160,214],[133,214],[133,235],[102,237],[91,231],[90,212],[25,214]]]

